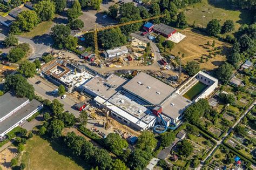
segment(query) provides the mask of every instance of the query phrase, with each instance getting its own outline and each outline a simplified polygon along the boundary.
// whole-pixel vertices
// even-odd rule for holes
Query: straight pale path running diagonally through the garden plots
[[[212,149],[212,151],[207,155],[207,157],[206,157],[203,161],[201,161],[201,163],[200,163],[200,165],[199,165],[199,167],[198,167],[197,169],[201,169],[201,167],[204,165],[205,160],[206,160],[207,158],[209,158],[209,157],[212,155],[213,151],[226,139],[227,135],[229,135],[229,134],[232,132],[232,130],[234,129],[234,127],[237,126],[237,124],[240,123],[240,121],[242,120],[242,118],[244,118],[245,115],[246,115],[248,112],[251,111],[251,109],[252,109],[252,107],[253,107],[254,105],[256,105],[256,101],[255,101],[255,100],[254,100],[254,102],[251,104],[251,106],[250,106],[249,108],[247,108],[246,112],[245,112],[244,114],[242,114],[242,116],[238,119],[238,121],[230,128],[230,130],[228,130],[228,132],[224,135],[224,137],[221,138],[221,140],[215,140],[215,139],[213,139],[213,140],[215,140],[215,141],[217,142],[217,145]],[[254,165],[252,165],[252,167],[255,168]]]

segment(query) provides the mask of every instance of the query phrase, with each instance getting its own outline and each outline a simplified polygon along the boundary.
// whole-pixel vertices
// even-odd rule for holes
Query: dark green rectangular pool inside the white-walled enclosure
[[[189,99],[189,100],[193,100],[194,98],[196,98],[198,96],[198,94],[200,94],[203,90],[205,90],[207,87],[206,84],[201,83],[200,81],[198,81],[197,84],[195,84],[193,87],[191,87],[190,90],[188,90],[183,97]]]

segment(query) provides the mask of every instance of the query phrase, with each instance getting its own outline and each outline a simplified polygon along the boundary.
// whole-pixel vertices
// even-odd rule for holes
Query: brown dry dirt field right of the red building
[[[181,56],[184,53],[184,58],[181,58],[182,64],[186,64],[188,61],[196,61],[200,64],[201,69],[212,70],[217,68],[226,60],[226,53],[228,52],[229,44],[220,42],[216,38],[208,37],[202,35],[197,30],[190,28],[180,31],[182,34],[186,35],[180,43],[176,44],[172,49],[171,53],[174,56]],[[211,46],[213,40],[215,40],[215,46],[218,50],[221,51],[220,47],[223,47],[223,51],[217,54],[215,57],[212,55],[212,58],[209,58],[206,62],[205,58],[209,55],[209,52],[213,53],[214,48]],[[210,42],[210,45],[207,45],[207,41]],[[180,55],[178,54],[180,52]],[[200,63],[200,58],[203,56],[204,63]]]

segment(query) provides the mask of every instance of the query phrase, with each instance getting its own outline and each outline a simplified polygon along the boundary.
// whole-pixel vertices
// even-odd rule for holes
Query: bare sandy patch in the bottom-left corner
[[[2,168],[3,170],[11,169],[10,162],[12,158],[15,158],[16,154],[16,147],[8,147],[4,149],[4,151],[0,153],[0,168]]]

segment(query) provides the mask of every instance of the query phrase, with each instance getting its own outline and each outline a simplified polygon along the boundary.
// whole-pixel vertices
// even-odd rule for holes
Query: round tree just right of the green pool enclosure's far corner
[[[219,80],[223,81],[223,83],[227,83],[233,73],[234,67],[225,62],[223,65],[219,66],[217,71],[216,71],[216,75],[219,78]]]

